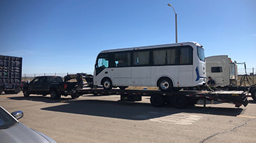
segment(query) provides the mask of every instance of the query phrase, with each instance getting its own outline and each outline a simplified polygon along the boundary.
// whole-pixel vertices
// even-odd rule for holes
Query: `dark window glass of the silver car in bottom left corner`
[[[7,129],[13,125],[16,125],[17,123],[18,122],[12,118],[9,113],[6,113],[6,110],[0,106],[0,130]]]

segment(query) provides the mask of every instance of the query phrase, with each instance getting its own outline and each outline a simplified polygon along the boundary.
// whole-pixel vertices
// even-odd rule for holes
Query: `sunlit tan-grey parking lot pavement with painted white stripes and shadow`
[[[202,101],[193,107],[154,108],[149,97],[120,102],[119,96],[0,95],[10,113],[23,110],[19,121],[56,142],[256,142],[256,102],[247,107]]]

